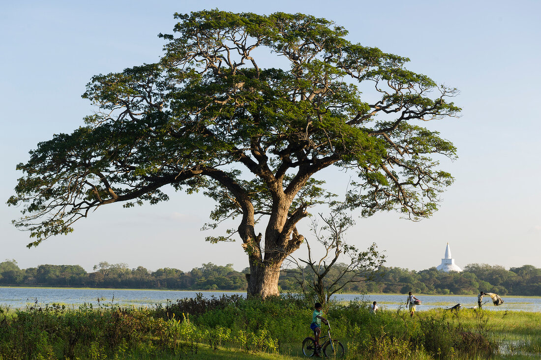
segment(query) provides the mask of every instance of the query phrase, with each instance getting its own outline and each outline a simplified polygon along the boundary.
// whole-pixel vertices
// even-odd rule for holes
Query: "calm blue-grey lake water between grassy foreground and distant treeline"
[[[222,294],[238,294],[246,296],[246,292],[220,292],[220,291],[168,291],[168,290],[120,290],[120,289],[50,289],[36,287],[0,287],[0,306],[11,309],[22,309],[27,305],[39,306],[46,304],[65,304],[78,306],[84,303],[98,304],[98,299],[105,304],[118,304],[120,306],[155,306],[164,304],[167,300],[195,297],[201,292],[203,297],[219,297]],[[477,306],[477,296],[444,296],[425,295],[417,296],[423,304],[417,306],[418,311],[448,308],[460,303],[463,307]],[[340,301],[367,300],[376,301],[382,309],[396,310],[404,307],[406,294],[337,294],[335,299]],[[536,311],[541,312],[541,298],[534,297],[503,297],[504,304],[492,305],[488,302],[483,305],[486,310],[512,310],[512,311]]]

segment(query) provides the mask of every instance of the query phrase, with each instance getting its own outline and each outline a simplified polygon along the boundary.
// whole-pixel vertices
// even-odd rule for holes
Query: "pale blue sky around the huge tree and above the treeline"
[[[349,30],[348,40],[406,56],[407,68],[456,87],[459,119],[424,123],[454,143],[459,158],[443,162],[456,181],[430,219],[411,222],[398,213],[357,219],[346,237],[385,250],[387,266],[437,266],[450,244],[458,266],[480,263],[541,267],[541,162],[537,109],[541,84],[541,2],[538,1],[24,1],[0,10],[0,261],[21,269],[41,264],[100,261],[175,267],[203,263],[248,265],[241,241],[210,244],[200,231],[214,208],[201,195],[168,191],[159,205],[101,207],[75,232],[28,249],[27,232],[12,219],[19,162],[53,134],[71,133],[95,108],[81,99],[91,76],[156,62],[160,32],[170,33],[175,12],[302,12]],[[328,171],[330,188],[344,176]],[[2,205],[4,204],[4,205]],[[309,236],[308,219],[300,226]],[[234,224],[233,224],[234,226]],[[304,230],[302,230],[304,229]],[[303,257],[301,247],[295,256]]]

